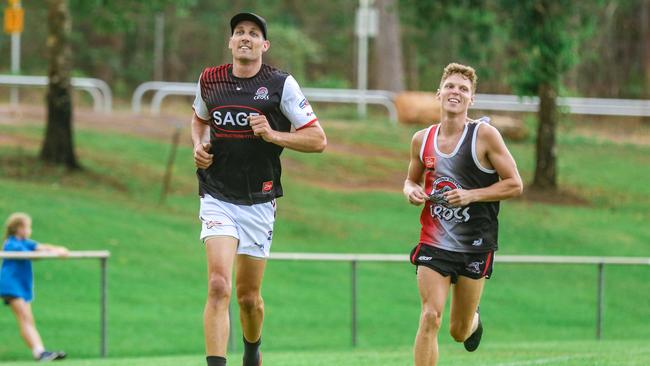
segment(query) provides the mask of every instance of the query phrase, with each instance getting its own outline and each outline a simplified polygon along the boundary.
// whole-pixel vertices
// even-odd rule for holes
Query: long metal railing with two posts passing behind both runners
[[[351,333],[352,346],[357,344],[357,264],[359,262],[408,262],[405,254],[334,254],[334,253],[271,253],[271,260],[337,261],[351,264]],[[604,313],[605,265],[650,265],[650,258],[639,257],[576,257],[576,256],[536,256],[536,255],[498,255],[495,263],[517,264],[595,264],[598,266],[598,290],[596,311],[596,339],[602,335]]]

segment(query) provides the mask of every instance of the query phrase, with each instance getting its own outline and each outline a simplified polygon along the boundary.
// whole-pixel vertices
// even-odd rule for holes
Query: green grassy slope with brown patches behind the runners
[[[400,193],[414,130],[371,122],[324,125],[325,154],[283,155],[286,197],[279,200],[273,250],[403,253],[406,259],[419,230],[419,208]],[[79,128],[86,169],[69,175],[36,162],[42,135],[42,126],[30,121],[0,125],[0,217],[27,211],[36,240],[111,251],[111,357],[200,355],[205,259],[189,146],[179,149],[171,195],[160,205],[166,140]],[[650,256],[650,148],[571,133],[559,141],[561,184],[587,204],[505,202],[499,253]],[[529,180],[533,144],[509,146]],[[40,261],[35,272],[34,312],[46,344],[73,359],[95,357],[98,264]],[[353,352],[349,264],[270,262],[263,290],[267,364],[409,364],[419,315],[412,266],[360,264],[358,273],[359,351]],[[595,343],[594,267],[498,265],[481,305],[490,323],[478,353],[485,357],[472,357],[472,364],[647,364],[650,268],[612,266],[605,274],[606,342]],[[234,328],[237,352],[241,333]],[[1,361],[29,359],[8,309],[0,309],[0,340]],[[441,364],[470,362],[453,351],[458,346],[446,334],[441,344],[448,357]],[[622,354],[627,363],[615,363],[612,357]],[[191,365],[195,358],[69,363]],[[316,361],[306,363],[310,359]],[[552,361],[530,361],[540,359]],[[596,363],[601,359],[610,363]]]

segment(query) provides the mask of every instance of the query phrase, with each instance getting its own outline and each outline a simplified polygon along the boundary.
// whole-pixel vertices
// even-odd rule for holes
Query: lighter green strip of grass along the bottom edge
[[[329,352],[265,352],[265,365],[282,366],[408,366],[412,365],[408,348],[384,348],[373,351]],[[230,362],[237,364],[240,354],[232,354]],[[475,353],[467,353],[462,346],[445,349],[439,360],[440,366],[645,366],[650,363],[650,349],[642,342],[546,342],[535,343],[487,343]],[[6,366],[28,365],[32,362],[8,362]],[[201,356],[134,357],[103,360],[69,360],[59,362],[70,366],[201,366]]]

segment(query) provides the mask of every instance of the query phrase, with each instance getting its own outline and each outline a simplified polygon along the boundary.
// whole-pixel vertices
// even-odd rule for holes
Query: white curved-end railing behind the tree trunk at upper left
[[[47,86],[47,76],[29,75],[0,75],[0,85],[7,86]],[[111,113],[113,109],[113,94],[104,80],[95,78],[71,78],[72,87],[88,92],[93,98],[93,109],[96,112]]]

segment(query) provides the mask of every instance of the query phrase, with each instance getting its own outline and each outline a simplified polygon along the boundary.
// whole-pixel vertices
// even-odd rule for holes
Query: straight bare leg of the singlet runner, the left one
[[[435,366],[438,362],[438,331],[450,284],[449,276],[444,277],[428,267],[418,267],[422,312],[415,336],[415,366]]]

